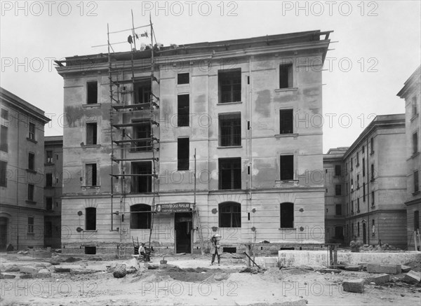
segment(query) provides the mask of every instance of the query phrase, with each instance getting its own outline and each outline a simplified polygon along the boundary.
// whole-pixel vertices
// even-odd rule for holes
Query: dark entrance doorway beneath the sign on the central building
[[[175,253],[192,252],[192,213],[179,212],[174,214],[175,223]]]

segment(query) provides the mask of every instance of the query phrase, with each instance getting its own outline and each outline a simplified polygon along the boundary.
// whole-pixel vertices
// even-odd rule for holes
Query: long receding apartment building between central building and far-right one
[[[347,150],[324,155],[325,171],[332,173],[326,179],[326,237],[348,245],[356,235],[363,244],[406,249],[405,146],[405,116],[384,115]]]

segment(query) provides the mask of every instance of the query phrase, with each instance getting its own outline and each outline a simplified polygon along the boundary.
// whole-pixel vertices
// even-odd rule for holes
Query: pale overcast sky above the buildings
[[[63,81],[53,60],[107,53],[111,32],[147,25],[168,46],[333,30],[323,67],[323,153],[350,146],[420,65],[421,1],[1,1],[2,88],[44,110],[62,134]],[[112,42],[126,41],[127,32]],[[114,45],[128,51],[128,44]],[[316,123],[317,124],[317,123]]]

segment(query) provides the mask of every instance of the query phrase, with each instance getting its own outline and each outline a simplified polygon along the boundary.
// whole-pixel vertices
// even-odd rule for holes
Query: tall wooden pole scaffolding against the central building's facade
[[[145,50],[138,50],[136,48],[136,39],[139,36],[147,37],[148,34],[136,34],[135,29],[142,27],[149,27],[150,46]],[[114,53],[112,48],[113,43],[110,43],[110,34],[120,34],[121,32],[131,31],[128,36],[128,43],[131,46],[131,60],[130,67],[119,64],[119,59],[116,58],[117,53]],[[125,255],[126,250],[126,235],[128,228],[123,225],[123,216],[126,213],[126,197],[129,188],[135,188],[135,183],[149,182],[147,190],[152,194],[151,224],[149,230],[149,246],[151,244],[151,236],[154,224],[154,210],[155,210],[155,180],[158,179],[156,175],[156,162],[159,158],[156,157],[159,151],[159,139],[154,137],[156,128],[159,123],[154,120],[156,110],[159,109],[159,97],[157,97],[152,88],[154,82],[159,81],[154,76],[155,62],[154,62],[154,28],[152,20],[149,18],[149,25],[135,27],[133,22],[132,11],[132,28],[109,32],[109,25],[107,25],[107,47],[108,47],[108,79],[109,79],[109,101],[111,107],[109,109],[110,119],[110,138],[111,138],[111,230],[118,231],[120,234],[119,256]],[[142,64],[140,67],[136,64],[135,55],[137,53],[149,53],[149,65]],[[144,69],[150,67],[150,75],[145,77],[136,77],[135,71],[143,72]],[[126,72],[126,74],[125,74]],[[130,78],[125,78],[127,74],[131,73]],[[136,73],[137,74],[137,73]],[[130,97],[130,99],[128,99]],[[140,117],[140,118],[139,118]],[[130,133],[131,131],[131,133]],[[114,134],[116,134],[114,137]],[[131,155],[128,157],[128,155]],[[152,155],[152,156],[151,156]],[[136,164],[138,162],[138,164]],[[149,162],[150,169],[135,170],[133,165],[140,165]],[[119,165],[119,171],[114,172],[114,165]],[[140,166],[139,166],[140,167]],[[140,167],[141,168],[141,167]],[[146,166],[146,168],[149,168]],[[126,169],[130,169],[130,174],[126,174]],[[135,172],[135,173],[134,173]],[[119,183],[119,188],[114,188],[114,181]],[[128,181],[131,186],[128,186]],[[133,183],[135,182],[135,183]],[[119,189],[119,190],[115,190]],[[116,198],[119,200],[119,210],[115,210],[114,203]],[[145,211],[146,212],[146,211]],[[131,211],[131,214],[142,214],[143,211]],[[121,215],[119,227],[114,228],[114,215]]]

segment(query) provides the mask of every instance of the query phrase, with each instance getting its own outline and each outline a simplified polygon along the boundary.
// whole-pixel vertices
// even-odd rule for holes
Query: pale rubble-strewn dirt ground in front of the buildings
[[[220,266],[211,266],[210,256],[168,256],[167,265],[160,265],[161,259],[149,263],[155,270],[141,263],[135,271],[130,259],[1,253],[1,272],[15,278],[0,280],[0,305],[420,305],[421,300],[420,284],[401,282],[403,274],[383,286],[366,284],[364,293],[349,293],[342,290],[343,280],[370,274],[326,274],[307,266],[241,272],[246,260],[232,254],[222,254]],[[116,263],[133,272],[114,278],[107,267],[110,271]],[[15,266],[44,270],[21,278],[24,273]],[[55,267],[71,269],[55,272]]]

